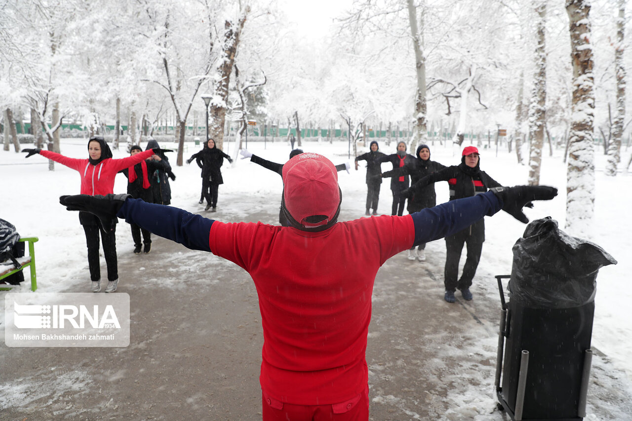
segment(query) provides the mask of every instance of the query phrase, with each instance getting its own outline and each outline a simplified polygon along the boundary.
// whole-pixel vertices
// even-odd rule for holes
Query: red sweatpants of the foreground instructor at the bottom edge
[[[263,421],[367,421],[368,385],[364,393],[332,405],[293,405],[262,393]]]

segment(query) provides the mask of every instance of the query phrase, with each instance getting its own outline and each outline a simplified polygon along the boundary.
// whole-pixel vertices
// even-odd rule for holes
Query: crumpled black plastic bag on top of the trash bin
[[[546,217],[528,224],[513,246],[509,293],[525,307],[570,308],[595,300],[597,272],[617,261]]]

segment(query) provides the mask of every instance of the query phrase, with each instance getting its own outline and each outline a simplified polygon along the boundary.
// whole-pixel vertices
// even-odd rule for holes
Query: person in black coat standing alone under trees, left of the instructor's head
[[[186,163],[190,164],[195,159],[198,166],[202,168],[202,192],[206,199],[204,210],[216,211],[219,185],[224,184],[221,171],[224,158],[233,163],[231,157],[215,147],[215,140],[209,139],[204,143],[204,149],[186,160]]]

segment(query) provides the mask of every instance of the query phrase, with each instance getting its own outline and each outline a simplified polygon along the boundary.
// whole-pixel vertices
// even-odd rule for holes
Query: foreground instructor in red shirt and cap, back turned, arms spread
[[[406,216],[338,222],[342,200],[329,159],[305,153],[283,166],[282,207],[291,226],[223,223],[126,195],[62,196],[68,210],[125,218],[247,271],[264,332],[259,381],[264,421],[368,420],[365,358],[375,275],[389,257],[451,235],[501,209],[526,222],[545,186],[500,188]]]

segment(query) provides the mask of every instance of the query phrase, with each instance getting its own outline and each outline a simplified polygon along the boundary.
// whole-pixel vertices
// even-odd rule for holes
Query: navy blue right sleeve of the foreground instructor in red
[[[411,214],[415,224],[415,243],[439,240],[453,235],[475,223],[483,216],[492,216],[502,209],[493,192],[450,200],[441,205]]]

